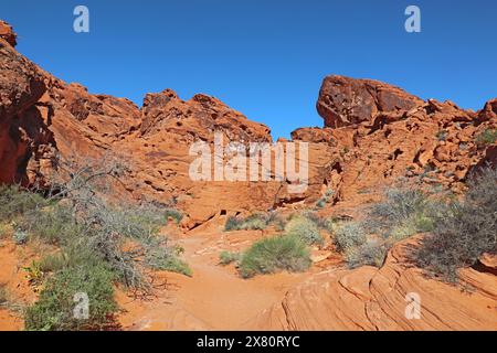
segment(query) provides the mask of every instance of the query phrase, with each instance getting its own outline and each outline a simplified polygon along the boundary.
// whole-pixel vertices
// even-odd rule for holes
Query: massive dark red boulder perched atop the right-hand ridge
[[[371,121],[378,113],[409,110],[422,99],[372,79],[328,76],[324,79],[317,110],[325,127],[338,128]]]

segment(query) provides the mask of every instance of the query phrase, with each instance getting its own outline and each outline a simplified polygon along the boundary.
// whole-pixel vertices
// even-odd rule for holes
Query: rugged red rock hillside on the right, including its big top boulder
[[[326,146],[334,156],[326,180],[336,202],[361,204],[400,178],[461,192],[475,165],[495,159],[495,143],[477,143],[497,127],[495,99],[474,113],[387,84],[329,76],[317,106],[325,128],[298,129],[293,137]]]

